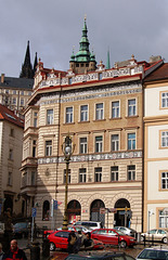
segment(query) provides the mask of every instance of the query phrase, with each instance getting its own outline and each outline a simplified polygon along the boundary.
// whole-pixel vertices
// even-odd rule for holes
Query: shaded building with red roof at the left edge
[[[0,104],[0,203],[16,216],[22,212],[21,162],[24,121]]]

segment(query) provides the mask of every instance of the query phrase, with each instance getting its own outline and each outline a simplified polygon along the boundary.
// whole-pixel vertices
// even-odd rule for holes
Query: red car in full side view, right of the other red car
[[[103,244],[116,245],[122,248],[132,247],[135,244],[135,238],[125,235],[120,231],[113,229],[99,229],[91,231],[91,238],[99,239]]]

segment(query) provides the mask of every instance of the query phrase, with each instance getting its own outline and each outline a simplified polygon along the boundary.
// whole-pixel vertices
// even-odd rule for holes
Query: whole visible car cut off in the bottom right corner
[[[137,260],[139,259],[167,260],[168,246],[156,246],[156,247],[145,248],[138,255]]]

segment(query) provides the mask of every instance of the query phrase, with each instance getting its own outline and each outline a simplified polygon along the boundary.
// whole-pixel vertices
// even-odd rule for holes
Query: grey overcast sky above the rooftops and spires
[[[168,61],[168,0],[0,0],[0,74],[18,77],[27,41],[47,68],[67,70],[87,15],[90,51],[111,66],[129,60]]]

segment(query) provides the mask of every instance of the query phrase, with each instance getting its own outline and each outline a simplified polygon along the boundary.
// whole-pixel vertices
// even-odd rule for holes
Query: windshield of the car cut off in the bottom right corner
[[[168,259],[168,251],[155,250],[155,249],[144,249],[138,257],[138,259]]]

